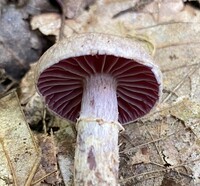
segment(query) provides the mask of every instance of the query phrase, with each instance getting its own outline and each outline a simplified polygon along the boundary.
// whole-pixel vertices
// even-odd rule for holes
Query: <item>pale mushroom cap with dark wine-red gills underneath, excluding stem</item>
[[[158,103],[162,78],[151,56],[130,38],[100,33],[59,41],[40,58],[36,88],[48,108],[76,121],[86,77],[107,73],[117,81],[119,122],[146,115]]]

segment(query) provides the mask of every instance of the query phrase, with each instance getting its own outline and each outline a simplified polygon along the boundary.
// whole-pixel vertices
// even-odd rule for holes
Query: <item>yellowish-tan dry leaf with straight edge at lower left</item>
[[[40,155],[17,98],[0,99],[0,185],[28,186]]]

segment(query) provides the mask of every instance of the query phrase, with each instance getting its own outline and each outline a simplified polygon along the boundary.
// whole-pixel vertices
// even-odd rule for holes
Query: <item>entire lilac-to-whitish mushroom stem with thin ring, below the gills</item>
[[[75,185],[118,185],[116,81],[107,74],[86,79],[77,122]]]

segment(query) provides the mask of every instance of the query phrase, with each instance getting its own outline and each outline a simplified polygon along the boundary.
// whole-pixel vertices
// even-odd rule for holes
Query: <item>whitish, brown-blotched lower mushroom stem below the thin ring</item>
[[[75,185],[118,185],[118,125],[80,120],[77,130]]]

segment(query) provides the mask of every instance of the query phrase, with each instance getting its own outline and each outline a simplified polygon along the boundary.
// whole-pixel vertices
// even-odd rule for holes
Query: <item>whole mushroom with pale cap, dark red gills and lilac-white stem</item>
[[[158,103],[161,73],[130,38],[77,34],[37,65],[36,87],[56,115],[76,122],[74,185],[118,185],[118,133]]]

